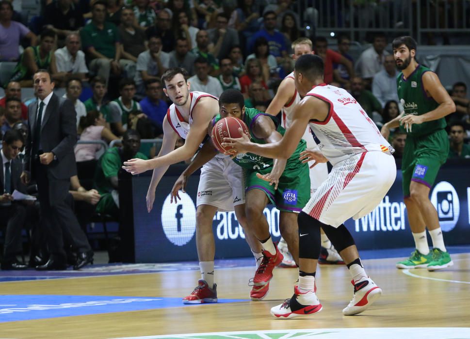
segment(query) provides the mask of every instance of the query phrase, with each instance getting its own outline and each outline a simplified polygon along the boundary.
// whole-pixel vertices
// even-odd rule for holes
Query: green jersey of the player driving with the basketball
[[[279,132],[282,136],[284,136],[284,133],[286,133],[286,130],[279,124],[279,121],[277,120],[276,117],[263,113],[259,111],[256,108],[245,108],[245,114],[243,116],[243,121],[246,123],[248,126],[248,130],[250,131],[250,137],[251,141],[255,142],[257,144],[265,144],[266,142],[264,139],[258,139],[253,135],[253,123],[255,120],[260,116],[260,115],[266,115],[267,117],[271,118],[276,126],[276,131]],[[215,123],[217,123],[221,119],[220,114],[217,114],[215,117]],[[288,163],[292,160],[294,160],[296,163],[300,164],[299,161],[299,156],[300,152],[305,151],[307,143],[305,140],[301,139],[300,142],[297,145],[297,148],[295,149],[294,153],[291,155],[291,157],[288,159]],[[243,154],[238,154],[235,158],[232,159],[237,163],[237,165],[243,167],[244,169],[247,170],[263,170],[267,168],[272,168],[273,167],[273,159],[271,158],[266,158],[261,155],[257,154],[252,154],[252,153],[243,153]],[[287,168],[287,165],[286,165]]]

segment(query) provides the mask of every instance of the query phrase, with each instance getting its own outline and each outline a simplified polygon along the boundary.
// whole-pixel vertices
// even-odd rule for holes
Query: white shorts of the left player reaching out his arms
[[[245,185],[240,166],[227,155],[216,155],[201,169],[196,207],[211,205],[221,212],[245,203]]]

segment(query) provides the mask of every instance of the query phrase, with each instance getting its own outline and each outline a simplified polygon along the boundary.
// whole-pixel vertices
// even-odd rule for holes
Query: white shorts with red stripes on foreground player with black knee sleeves
[[[340,226],[373,211],[397,174],[395,159],[383,152],[364,152],[341,161],[302,210],[326,225]]]

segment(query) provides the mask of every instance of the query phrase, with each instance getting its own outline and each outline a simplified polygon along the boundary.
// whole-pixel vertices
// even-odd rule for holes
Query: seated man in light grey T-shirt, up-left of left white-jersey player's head
[[[137,58],[134,81],[137,93],[144,94],[144,82],[160,79],[163,72],[169,67],[170,55],[162,51],[162,38],[152,35],[148,39],[148,50],[139,54]]]

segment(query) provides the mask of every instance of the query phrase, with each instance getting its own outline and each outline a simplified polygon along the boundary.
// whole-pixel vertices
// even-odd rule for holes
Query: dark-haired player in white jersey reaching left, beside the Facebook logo
[[[163,92],[173,104],[163,119],[163,141],[158,156],[139,161],[124,162],[123,169],[132,174],[153,170],[148,187],[147,211],[153,207],[155,190],[169,165],[190,159],[204,141],[207,126],[219,112],[216,97],[204,92],[189,92],[188,73],[183,68],[171,68],[162,75]],[[183,146],[175,150],[176,141],[185,139]],[[185,304],[217,302],[217,285],[214,283],[215,243],[212,219],[217,210],[235,210],[245,238],[255,259],[262,258],[262,247],[254,234],[246,228],[244,186],[242,170],[230,157],[221,154],[214,157],[201,170],[196,200],[196,247],[201,268],[201,279],[193,293],[183,298]],[[228,189],[227,189],[228,187]]]

